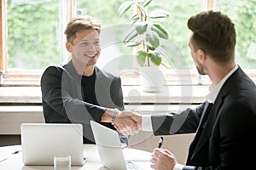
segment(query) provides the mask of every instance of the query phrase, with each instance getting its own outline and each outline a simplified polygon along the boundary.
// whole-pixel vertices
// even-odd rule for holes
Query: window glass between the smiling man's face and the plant
[[[76,1],[76,15],[91,15],[102,26],[102,53],[96,65],[108,71],[119,71],[133,68],[133,49],[125,48],[123,40],[125,30],[129,28],[130,16],[119,16],[119,5],[124,0]]]

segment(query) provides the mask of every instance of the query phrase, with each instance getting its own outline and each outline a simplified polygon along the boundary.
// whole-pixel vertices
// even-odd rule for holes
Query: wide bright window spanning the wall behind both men
[[[67,59],[63,29],[73,15],[90,14],[102,24],[102,55],[97,65],[107,70],[129,70],[134,66],[133,51],[125,48],[122,40],[122,25],[129,16],[122,18],[118,8],[124,0],[1,0],[0,71],[4,77],[26,79],[40,77],[48,65],[58,65]],[[253,76],[256,64],[256,1],[153,1],[155,8],[165,8],[170,18],[163,20],[170,34],[175,50],[172,55],[173,67],[194,69],[195,66],[187,46],[189,30],[186,21],[192,14],[206,9],[224,11],[236,24],[236,60]],[[230,8],[230,3],[232,8]],[[111,39],[116,37],[116,39]],[[104,40],[106,39],[106,40]],[[107,41],[107,42],[104,42]],[[104,46],[105,45],[105,46]],[[166,49],[169,49],[166,44]],[[176,50],[177,49],[177,50]],[[115,63],[115,66],[109,65]],[[195,71],[196,72],[196,71]],[[166,73],[168,74],[168,73]],[[24,76],[23,76],[24,77]]]

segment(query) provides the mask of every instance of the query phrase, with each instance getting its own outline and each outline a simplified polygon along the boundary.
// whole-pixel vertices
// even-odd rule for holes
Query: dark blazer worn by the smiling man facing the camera
[[[83,124],[84,143],[94,143],[90,120],[101,122],[107,107],[124,110],[120,77],[96,66],[95,71],[95,93],[99,105],[91,105],[84,100],[82,76],[77,74],[72,61],[63,66],[49,66],[41,77],[45,122]],[[113,128],[110,123],[103,124]]]

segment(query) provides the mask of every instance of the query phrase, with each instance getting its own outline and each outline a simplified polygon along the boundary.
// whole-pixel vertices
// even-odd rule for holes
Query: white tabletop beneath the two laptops
[[[15,151],[19,151],[14,154]],[[102,166],[100,156],[95,144],[84,144],[84,156],[87,161],[82,167],[72,166],[72,170],[108,170]],[[124,156],[126,160],[149,161],[151,153],[143,150],[125,149]],[[146,165],[146,166],[145,166]],[[143,163],[143,167],[150,168],[150,162]],[[148,169],[147,168],[147,169]],[[25,166],[22,163],[21,145],[0,147],[0,169],[1,170],[53,170],[54,166]]]

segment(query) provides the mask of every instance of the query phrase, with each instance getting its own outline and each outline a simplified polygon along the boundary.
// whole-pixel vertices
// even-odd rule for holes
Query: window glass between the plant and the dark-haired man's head
[[[189,29],[187,20],[190,16],[198,14],[203,9],[201,0],[196,1],[154,1],[155,8],[164,8],[170,17],[163,20],[163,25],[169,31],[170,39],[166,42],[164,49],[172,60],[172,67],[176,69],[195,68],[189,52]]]

